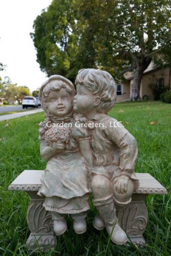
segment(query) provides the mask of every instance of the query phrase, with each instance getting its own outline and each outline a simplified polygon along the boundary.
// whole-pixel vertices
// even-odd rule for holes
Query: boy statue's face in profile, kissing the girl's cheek
[[[74,97],[74,110],[83,115],[90,113],[94,108],[95,96],[85,86],[77,84]]]

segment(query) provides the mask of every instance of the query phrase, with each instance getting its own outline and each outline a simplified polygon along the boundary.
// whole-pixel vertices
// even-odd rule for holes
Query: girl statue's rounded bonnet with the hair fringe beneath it
[[[61,88],[66,88],[67,92],[71,94],[71,97],[74,99],[75,96],[75,88],[73,83],[62,75],[51,75],[48,80],[44,81],[39,91],[39,101],[41,103],[41,107],[46,112],[46,102],[45,97],[48,96],[51,90],[59,91]]]

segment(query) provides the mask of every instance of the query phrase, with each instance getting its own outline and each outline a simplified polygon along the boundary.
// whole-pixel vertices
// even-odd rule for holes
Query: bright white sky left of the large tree
[[[7,65],[0,77],[36,90],[45,81],[36,61],[30,33],[33,21],[52,0],[0,0],[0,62]]]

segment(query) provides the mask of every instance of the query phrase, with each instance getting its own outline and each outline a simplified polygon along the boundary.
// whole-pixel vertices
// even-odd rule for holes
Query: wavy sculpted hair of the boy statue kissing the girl
[[[76,84],[84,85],[93,95],[101,97],[101,103],[96,107],[99,112],[107,113],[116,100],[114,78],[107,71],[87,68],[78,71]]]

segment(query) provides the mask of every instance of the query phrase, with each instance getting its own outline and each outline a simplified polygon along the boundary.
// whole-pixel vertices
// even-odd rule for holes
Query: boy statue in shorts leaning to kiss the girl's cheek
[[[118,224],[116,208],[131,202],[133,191],[139,186],[134,173],[137,142],[120,122],[107,115],[116,100],[115,82],[108,72],[81,69],[76,91],[74,110],[87,119],[93,155],[90,189],[100,214],[95,216],[93,225],[99,230],[106,227],[114,243],[125,244],[127,235]],[[82,140],[80,135],[76,139]]]

